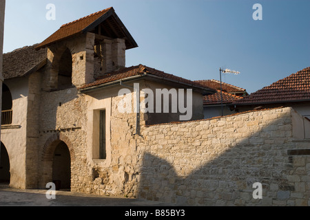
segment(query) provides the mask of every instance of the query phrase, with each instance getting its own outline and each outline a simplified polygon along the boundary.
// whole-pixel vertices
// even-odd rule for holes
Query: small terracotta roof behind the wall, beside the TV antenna
[[[225,91],[222,91],[222,96],[223,96],[223,104],[229,104],[232,102],[235,102],[236,100],[242,99],[240,96],[235,96],[233,94],[229,94]],[[221,104],[221,98],[220,98],[220,90],[217,90],[216,94],[211,94],[207,96],[203,96],[203,104],[208,105],[208,104]]]

